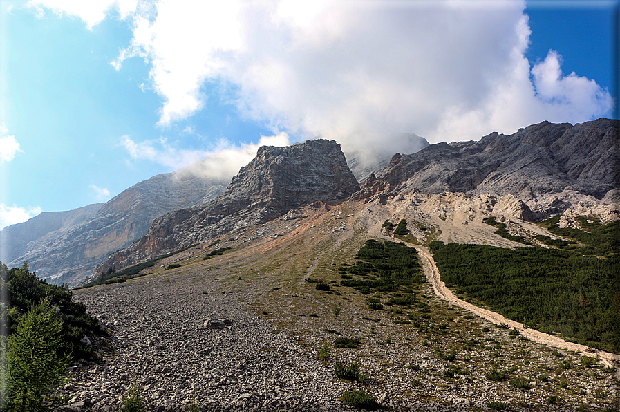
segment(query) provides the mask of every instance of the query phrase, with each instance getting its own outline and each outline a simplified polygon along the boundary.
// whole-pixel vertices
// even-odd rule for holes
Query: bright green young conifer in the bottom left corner
[[[46,411],[66,401],[51,395],[71,362],[70,355],[59,355],[61,346],[62,319],[46,297],[26,312],[8,338],[8,368],[2,370],[6,411]]]

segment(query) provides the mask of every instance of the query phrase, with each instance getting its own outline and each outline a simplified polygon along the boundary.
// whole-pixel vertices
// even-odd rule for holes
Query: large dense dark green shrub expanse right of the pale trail
[[[619,259],[541,247],[436,243],[431,250],[457,293],[528,327],[620,350]]]

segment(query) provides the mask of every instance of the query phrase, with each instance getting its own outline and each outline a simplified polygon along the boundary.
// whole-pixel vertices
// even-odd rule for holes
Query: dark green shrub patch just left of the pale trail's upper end
[[[355,265],[341,266],[338,270],[356,277],[342,279],[340,284],[355,288],[361,293],[390,290],[411,292],[412,285],[426,281],[417,259],[417,252],[404,243],[390,241],[379,243],[370,239],[359,249],[355,258],[361,261]]]

